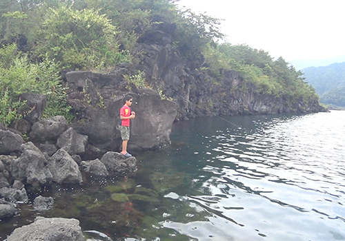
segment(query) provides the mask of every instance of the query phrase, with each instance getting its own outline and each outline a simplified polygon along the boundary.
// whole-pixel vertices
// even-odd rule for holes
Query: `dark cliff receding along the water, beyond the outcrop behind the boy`
[[[197,116],[324,111],[317,98],[290,103],[284,98],[259,94],[253,84],[233,70],[219,70],[217,78],[210,76],[203,68],[207,63],[197,58],[187,63],[181,58],[172,45],[175,25],[160,21],[137,43],[142,53],[138,68],[146,72],[152,86],[164,90],[177,103],[177,121]]]

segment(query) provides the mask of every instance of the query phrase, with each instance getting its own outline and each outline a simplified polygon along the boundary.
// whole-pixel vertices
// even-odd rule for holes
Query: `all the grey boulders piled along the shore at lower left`
[[[75,132],[63,116],[34,123],[30,138],[32,141],[25,142],[21,135],[0,129],[0,220],[16,215],[17,205],[30,202],[28,193],[35,210],[52,209],[52,197],[35,197],[32,193],[44,193],[54,183],[79,185],[85,175],[124,176],[137,170],[135,157],[126,158],[115,151],[107,151],[94,160],[82,160],[79,155],[86,152],[88,136]],[[55,222],[59,224],[51,229],[49,225]],[[45,240],[83,240],[79,221],[72,219],[37,220],[28,227],[15,229],[8,240],[35,240],[37,235],[43,235],[32,232],[37,225],[42,229],[48,225],[42,237],[51,238]],[[71,231],[63,228],[59,233],[59,225],[68,225]]]

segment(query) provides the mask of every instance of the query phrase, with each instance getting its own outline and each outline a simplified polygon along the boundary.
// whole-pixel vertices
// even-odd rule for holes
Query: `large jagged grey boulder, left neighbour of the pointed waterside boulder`
[[[28,183],[34,188],[45,185],[52,180],[44,154],[28,142],[21,145],[22,154],[10,163],[10,173],[15,180]]]

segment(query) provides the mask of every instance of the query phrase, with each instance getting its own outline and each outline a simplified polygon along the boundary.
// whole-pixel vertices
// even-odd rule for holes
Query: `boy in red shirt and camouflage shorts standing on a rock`
[[[135,118],[135,112],[132,112],[132,109],[130,109],[130,105],[132,105],[133,97],[132,96],[126,96],[125,97],[125,104],[120,109],[120,125],[119,130],[121,132],[121,138],[122,138],[122,151],[121,154],[130,157],[132,156],[127,152],[127,144],[129,140],[129,134],[130,134],[130,119]]]

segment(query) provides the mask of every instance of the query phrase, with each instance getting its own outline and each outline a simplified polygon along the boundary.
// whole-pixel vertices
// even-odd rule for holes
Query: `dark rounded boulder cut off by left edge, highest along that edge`
[[[14,151],[20,151],[21,144],[23,143],[24,140],[19,134],[0,129],[0,154],[10,154]]]

